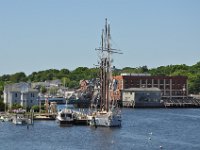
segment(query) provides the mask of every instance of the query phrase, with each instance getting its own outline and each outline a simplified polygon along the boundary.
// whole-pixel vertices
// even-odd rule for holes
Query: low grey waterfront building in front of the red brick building
[[[158,88],[129,88],[122,90],[124,107],[162,107],[161,90]]]

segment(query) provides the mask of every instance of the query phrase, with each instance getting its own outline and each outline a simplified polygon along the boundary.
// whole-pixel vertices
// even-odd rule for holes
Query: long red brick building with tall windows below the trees
[[[161,90],[162,99],[185,98],[188,96],[187,77],[185,76],[151,76],[150,74],[122,74],[115,76],[118,89],[151,88]]]

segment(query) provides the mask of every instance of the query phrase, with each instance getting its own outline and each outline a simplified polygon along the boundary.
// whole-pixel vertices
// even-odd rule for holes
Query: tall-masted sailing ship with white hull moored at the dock
[[[102,30],[101,47],[95,49],[100,52],[100,110],[93,113],[90,124],[94,126],[117,127],[121,126],[121,111],[115,98],[116,80],[112,77],[111,54],[120,53],[112,49],[110,25],[105,20],[105,29]]]

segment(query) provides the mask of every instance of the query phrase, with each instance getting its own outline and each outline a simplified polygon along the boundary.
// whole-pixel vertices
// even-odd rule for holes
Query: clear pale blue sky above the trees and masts
[[[0,75],[97,64],[105,18],[116,68],[200,61],[199,0],[0,0]]]

